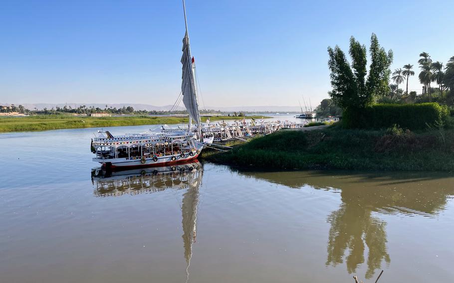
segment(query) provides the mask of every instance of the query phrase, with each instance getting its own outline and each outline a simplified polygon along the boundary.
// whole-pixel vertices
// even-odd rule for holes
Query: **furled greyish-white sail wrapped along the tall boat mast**
[[[197,103],[196,84],[192,67],[193,58],[191,57],[191,49],[189,48],[188,30],[186,30],[185,37],[183,38],[183,56],[181,57],[181,63],[183,64],[181,83],[183,103],[185,104],[186,110],[188,110],[189,116],[195,123],[200,125],[199,104]]]

